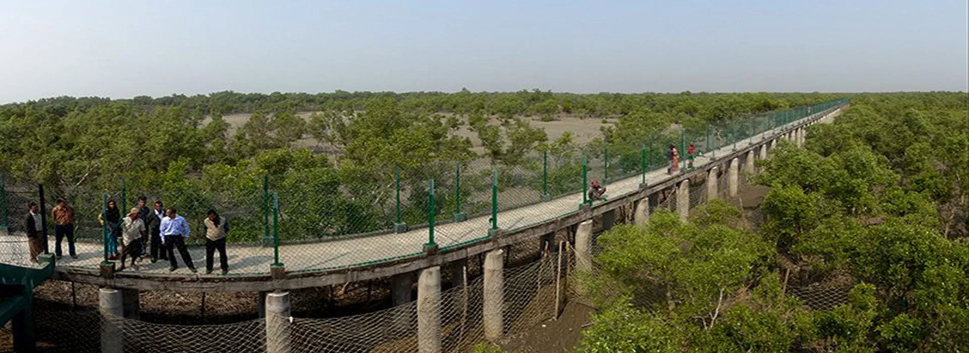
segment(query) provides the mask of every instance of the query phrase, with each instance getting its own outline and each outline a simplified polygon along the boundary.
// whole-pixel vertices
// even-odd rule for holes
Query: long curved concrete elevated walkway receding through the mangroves
[[[654,170],[642,176],[636,175],[609,183],[610,199],[596,202],[591,207],[579,207],[582,193],[576,192],[546,202],[501,212],[498,215],[499,231],[488,236],[491,228],[489,216],[466,221],[438,224],[436,226],[438,251],[422,252],[427,242],[427,229],[414,229],[403,233],[372,235],[321,243],[280,246],[286,253],[281,259],[285,266],[273,266],[273,249],[262,247],[232,247],[229,276],[203,275],[188,272],[185,267],[169,272],[166,263],[147,264],[139,272],[113,272],[100,266],[100,244],[78,242],[78,259],[65,256],[57,263],[54,279],[93,283],[100,286],[140,290],[178,291],[271,291],[340,284],[366,279],[387,278],[409,274],[422,269],[461,261],[491,250],[525,241],[534,240],[555,231],[576,226],[582,221],[603,217],[610,226],[615,211],[628,208],[636,221],[648,218],[650,202],[656,203],[659,194],[674,194],[676,209],[681,215],[689,211],[689,188],[691,180],[698,184],[709,178],[726,177],[735,191],[737,174],[741,165],[753,171],[755,159],[766,158],[767,149],[777,140],[787,138],[797,144],[803,142],[804,128],[830,119],[838,114],[845,102],[831,104],[793,123],[740,140],[715,151],[706,151],[698,157],[695,169],[677,175],[665,170]],[[705,183],[706,188],[716,192],[717,183]],[[696,187],[696,186],[695,186]],[[707,189],[710,191],[711,189]],[[684,192],[686,191],[686,192]],[[579,232],[582,229],[578,229]],[[577,234],[577,237],[581,234]],[[0,237],[0,247],[5,255],[26,253],[20,242],[22,235]],[[578,238],[577,238],[578,239]],[[49,239],[53,248],[53,237]],[[19,249],[22,248],[22,249]],[[204,268],[204,250],[190,248],[196,268]],[[177,254],[176,254],[177,255]],[[179,256],[179,262],[181,258]]]

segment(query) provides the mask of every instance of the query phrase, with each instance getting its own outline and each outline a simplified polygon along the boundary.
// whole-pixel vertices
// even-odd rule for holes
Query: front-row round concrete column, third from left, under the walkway
[[[441,267],[421,270],[418,278],[418,352],[441,352]]]

